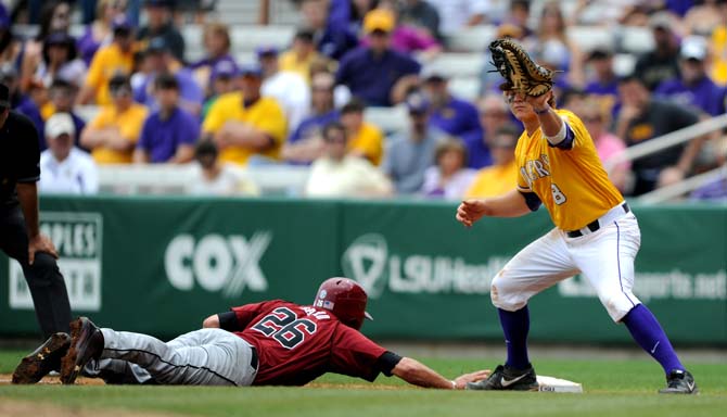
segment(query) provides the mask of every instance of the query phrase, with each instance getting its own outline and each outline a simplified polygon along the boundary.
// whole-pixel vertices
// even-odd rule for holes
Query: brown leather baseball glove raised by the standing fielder
[[[554,72],[538,65],[523,47],[510,39],[497,39],[489,43],[493,65],[502,75],[503,91],[515,90],[527,96],[540,97],[552,88]]]

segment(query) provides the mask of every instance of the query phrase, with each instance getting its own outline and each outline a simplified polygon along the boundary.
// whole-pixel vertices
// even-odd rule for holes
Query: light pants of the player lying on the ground
[[[105,369],[139,383],[153,378],[186,386],[251,386],[257,375],[253,348],[226,330],[195,330],[166,343],[148,334],[106,328],[101,332],[103,353],[86,367],[87,375]]]

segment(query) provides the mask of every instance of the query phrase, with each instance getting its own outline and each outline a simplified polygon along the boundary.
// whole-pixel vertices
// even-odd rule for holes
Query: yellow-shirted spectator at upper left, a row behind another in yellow
[[[133,70],[132,27],[126,16],[113,22],[114,40],[93,55],[86,76],[86,85],[78,94],[79,104],[111,104],[109,80],[115,75],[130,75]]]

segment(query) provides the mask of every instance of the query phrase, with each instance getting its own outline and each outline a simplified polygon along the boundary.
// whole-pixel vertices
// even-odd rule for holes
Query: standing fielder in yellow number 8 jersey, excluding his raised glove
[[[640,245],[636,217],[611,184],[583,122],[553,108],[552,91],[540,97],[509,90],[505,98],[525,131],[515,148],[516,189],[497,198],[465,200],[457,219],[472,226],[483,216],[516,217],[548,210],[556,228],[520,251],[493,279],[508,358],[473,390],[533,390],[527,357],[531,296],[578,273],[596,289],[616,323],[656,359],[666,374],[661,393],[697,393],[653,314],[634,295],[634,258]]]

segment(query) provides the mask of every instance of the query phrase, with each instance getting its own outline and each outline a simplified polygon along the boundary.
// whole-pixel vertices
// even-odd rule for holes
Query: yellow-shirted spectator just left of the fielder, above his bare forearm
[[[512,190],[518,181],[515,146],[520,132],[520,129],[511,123],[496,130],[490,143],[494,164],[477,172],[464,194],[465,199],[496,197]]]

